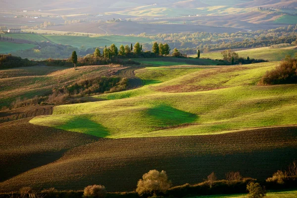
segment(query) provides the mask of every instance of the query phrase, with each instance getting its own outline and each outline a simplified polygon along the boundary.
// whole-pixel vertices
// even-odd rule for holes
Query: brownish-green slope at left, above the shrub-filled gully
[[[125,67],[85,66],[77,70],[65,67],[34,66],[0,70],[0,107],[16,98],[33,98],[50,94],[53,88],[69,85],[77,79],[110,76]]]

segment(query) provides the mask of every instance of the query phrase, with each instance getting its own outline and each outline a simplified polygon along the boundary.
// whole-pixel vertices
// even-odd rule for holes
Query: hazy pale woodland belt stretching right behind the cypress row
[[[181,53],[196,54],[198,49],[201,52],[208,52],[224,49],[260,48],[283,43],[291,44],[297,39],[297,25],[253,32],[222,34],[196,32],[157,35],[143,33],[138,36],[166,42],[170,48],[178,48]],[[150,47],[151,45],[148,45],[145,50]]]

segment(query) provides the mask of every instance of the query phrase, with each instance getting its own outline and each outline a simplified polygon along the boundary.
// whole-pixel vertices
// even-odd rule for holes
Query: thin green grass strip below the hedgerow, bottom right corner
[[[241,195],[212,195],[212,196],[201,196],[192,198],[244,198],[246,194]],[[282,192],[271,192],[267,193],[267,198],[296,198],[297,191],[282,191]]]

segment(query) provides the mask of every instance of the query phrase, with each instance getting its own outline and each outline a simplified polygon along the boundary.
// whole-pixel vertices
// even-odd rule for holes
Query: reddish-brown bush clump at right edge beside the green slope
[[[267,71],[260,80],[260,85],[297,83],[297,59],[288,58],[275,69]]]

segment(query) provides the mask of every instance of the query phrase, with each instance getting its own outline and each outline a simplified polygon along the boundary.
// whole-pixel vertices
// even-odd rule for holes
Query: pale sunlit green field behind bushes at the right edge
[[[256,48],[256,49],[246,49],[236,51],[240,57],[254,58],[254,59],[264,59],[269,61],[278,61],[285,58],[286,55],[295,56],[297,53],[296,47],[287,47],[280,49],[270,49],[266,48]],[[195,57],[195,56],[194,56]],[[221,52],[210,52],[210,53],[202,53],[201,58],[211,58],[211,59],[223,59]]]

